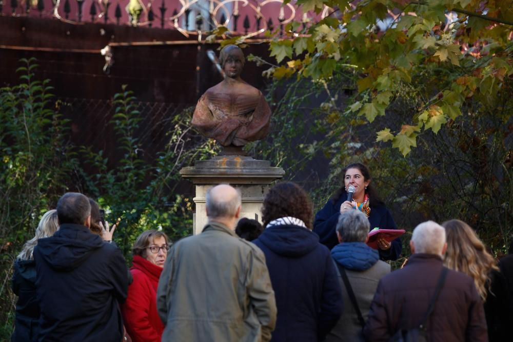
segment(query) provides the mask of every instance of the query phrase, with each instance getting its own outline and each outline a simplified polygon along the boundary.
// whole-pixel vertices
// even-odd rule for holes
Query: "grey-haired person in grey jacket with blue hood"
[[[369,314],[379,280],[390,273],[390,265],[380,260],[378,250],[367,246],[370,224],[364,213],[358,210],[345,211],[340,215],[336,229],[339,245],[333,247],[331,256],[337,266],[345,310],[325,341],[364,341],[362,323]],[[346,288],[342,272],[347,275],[351,289]],[[349,294],[351,290],[361,319],[352,303]]]

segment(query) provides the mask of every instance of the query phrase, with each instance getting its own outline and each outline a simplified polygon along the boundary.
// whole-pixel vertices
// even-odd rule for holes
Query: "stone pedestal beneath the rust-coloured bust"
[[[271,167],[266,160],[255,160],[243,155],[219,155],[199,160],[192,167],[180,170],[183,178],[195,186],[193,234],[199,234],[207,223],[205,195],[218,184],[229,184],[241,190],[241,217],[257,219],[262,223],[262,202],[271,184],[285,174],[282,168]]]

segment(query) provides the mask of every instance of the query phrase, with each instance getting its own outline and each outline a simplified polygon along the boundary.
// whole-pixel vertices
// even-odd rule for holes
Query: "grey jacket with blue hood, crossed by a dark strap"
[[[370,248],[363,242],[345,242],[339,244],[331,250],[331,256],[336,264],[340,264],[346,271],[347,278],[354,292],[354,297],[358,303],[358,308],[366,320],[369,315],[370,303],[378,287],[379,280],[390,273],[390,265],[380,260],[377,250]],[[362,329],[358,320],[358,314],[354,309],[351,299],[347,294],[344,281],[340,275],[339,283],[342,289],[344,303],[346,303],[344,313],[340,317],[337,325],[331,329],[326,337],[326,342],[364,341]]]

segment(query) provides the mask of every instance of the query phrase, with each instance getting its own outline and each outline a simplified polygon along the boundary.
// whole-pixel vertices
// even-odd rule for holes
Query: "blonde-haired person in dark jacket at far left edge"
[[[18,296],[18,300],[11,342],[37,340],[40,310],[35,291],[35,263],[32,252],[40,238],[52,236],[58,229],[57,211],[47,211],[37,225],[35,236],[23,245],[23,250],[14,262],[12,292]]]

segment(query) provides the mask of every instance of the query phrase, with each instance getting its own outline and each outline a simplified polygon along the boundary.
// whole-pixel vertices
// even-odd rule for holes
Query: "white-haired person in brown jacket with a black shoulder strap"
[[[427,221],[413,230],[408,263],[378,284],[364,328],[367,340],[388,341],[422,324],[430,341],[488,341],[481,297],[472,278],[444,268],[446,248],[439,224]],[[435,297],[442,271],[446,278]]]

